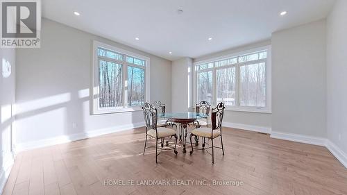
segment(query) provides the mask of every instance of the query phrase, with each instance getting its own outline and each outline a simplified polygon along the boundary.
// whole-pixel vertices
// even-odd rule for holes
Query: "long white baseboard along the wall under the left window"
[[[144,126],[144,122],[140,122],[137,124],[128,124],[124,126],[115,126],[112,128],[102,128],[99,130],[87,131],[84,133],[76,133],[72,135],[62,135],[59,137],[49,138],[49,139],[41,139],[35,142],[25,142],[19,143],[15,145],[15,153],[19,153],[20,151],[27,151],[31,149],[37,149],[45,146],[53,146],[56,144],[63,144],[67,142],[74,142],[76,140],[86,139],[89,137],[96,137],[99,135],[105,135],[109,133],[116,133],[122,130],[130,130],[132,128],[139,128]]]

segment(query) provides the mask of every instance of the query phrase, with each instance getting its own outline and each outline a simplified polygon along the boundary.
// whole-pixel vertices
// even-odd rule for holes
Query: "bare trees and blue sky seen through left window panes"
[[[105,113],[108,110],[112,112],[112,109],[143,105],[146,60],[101,47],[96,53],[99,76],[99,98],[96,101],[101,111]]]

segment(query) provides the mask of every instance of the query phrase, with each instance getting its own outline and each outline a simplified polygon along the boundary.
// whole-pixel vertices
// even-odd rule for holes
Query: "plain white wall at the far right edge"
[[[338,0],[327,21],[328,139],[347,160],[347,1]]]

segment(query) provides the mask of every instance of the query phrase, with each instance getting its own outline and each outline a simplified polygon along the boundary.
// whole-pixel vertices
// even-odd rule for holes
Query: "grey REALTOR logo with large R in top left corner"
[[[1,1],[1,48],[39,48],[40,0]]]

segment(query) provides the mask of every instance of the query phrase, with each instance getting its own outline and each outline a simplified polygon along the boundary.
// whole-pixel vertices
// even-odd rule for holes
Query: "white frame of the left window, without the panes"
[[[98,56],[98,48],[101,47],[103,49],[107,49],[110,51],[115,51],[116,53],[121,53],[126,56],[139,58],[140,60],[146,61],[145,66],[141,65],[135,65],[132,63],[128,63],[125,61],[120,60],[114,60],[114,59],[107,59],[108,61],[117,62],[118,64],[123,65],[123,106],[121,107],[115,107],[115,108],[100,108],[99,107],[99,56]],[[124,49],[120,49],[116,46],[111,46],[109,44],[104,44],[102,42],[93,41],[92,46],[92,87],[91,92],[92,96],[90,96],[90,103],[91,103],[91,110],[92,115],[101,115],[101,114],[110,114],[110,113],[117,113],[117,112],[134,112],[142,110],[141,106],[128,106],[128,66],[131,67],[139,67],[144,69],[144,101],[150,102],[150,75],[149,75],[149,69],[150,69],[150,58],[146,56],[139,55],[138,53],[133,53],[130,51],[126,51]]]

